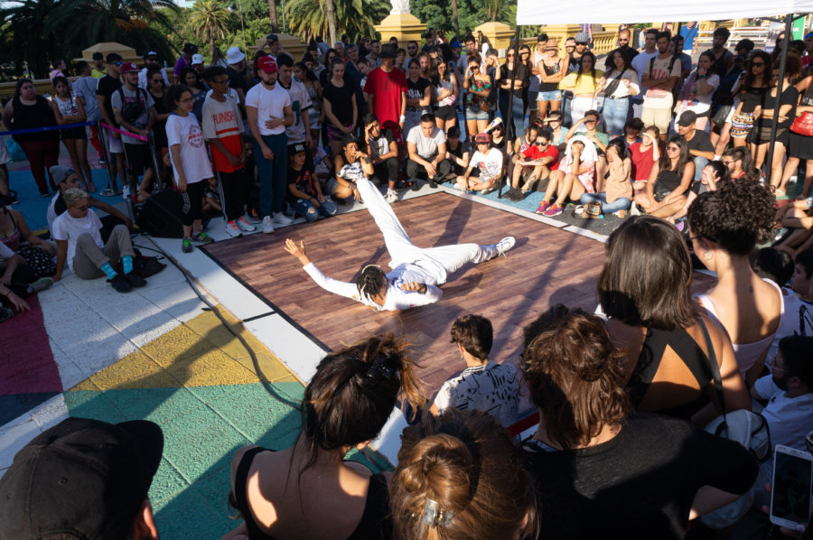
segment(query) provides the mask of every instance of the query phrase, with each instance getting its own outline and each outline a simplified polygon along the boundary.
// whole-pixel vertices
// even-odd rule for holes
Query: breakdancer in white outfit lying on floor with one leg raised
[[[491,246],[457,244],[441,247],[416,247],[401,227],[395,212],[378,189],[367,178],[358,181],[361,198],[384,235],[392,270],[385,274],[378,265],[367,265],[355,284],[332,279],[322,274],[299,245],[285,240],[285,251],[299,259],[304,271],[322,289],[340,294],[376,310],[397,311],[435,303],[443,295],[437,285],[466,263],[482,263],[500,256],[514,246],[514,237],[505,237]]]

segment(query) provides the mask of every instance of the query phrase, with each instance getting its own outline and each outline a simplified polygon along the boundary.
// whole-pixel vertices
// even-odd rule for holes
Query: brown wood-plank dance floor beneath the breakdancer
[[[464,242],[491,244],[517,237],[508,257],[466,265],[443,285],[435,304],[405,312],[374,312],[314,284],[283,249],[285,238],[304,240],[325,275],[355,281],[363,265],[388,269],[384,239],[367,211],[251,235],[205,249],[233,275],[266,298],[329,349],[396,332],[414,343],[425,389],[433,395],[465,366],[449,341],[455,318],[480,313],[494,326],[491,358],[517,364],[522,327],[553,303],[593,311],[595,281],[604,262],[603,244],[448,193],[398,202],[394,209],[420,247]],[[285,339],[280,337],[280,339]]]

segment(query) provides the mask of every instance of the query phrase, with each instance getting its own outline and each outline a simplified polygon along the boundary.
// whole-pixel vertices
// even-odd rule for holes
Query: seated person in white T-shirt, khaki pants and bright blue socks
[[[68,210],[53,220],[53,239],[57,243],[57,273],[60,281],[67,264],[82,279],[107,275],[117,293],[129,293],[133,287],[143,287],[146,280],[133,273],[133,244],[130,231],[124,225],[113,228],[107,243],[98,230],[102,228],[96,212],[90,210],[87,191],[71,189],[64,193]],[[123,274],[113,269],[119,260]]]

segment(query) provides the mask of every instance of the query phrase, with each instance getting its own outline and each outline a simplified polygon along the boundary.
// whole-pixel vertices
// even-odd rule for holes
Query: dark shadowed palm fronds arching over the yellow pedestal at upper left
[[[173,31],[167,17],[179,9],[173,0],[59,0],[55,5],[46,29],[60,31],[59,45],[69,58],[98,42],[120,42],[136,51],[157,49],[164,58],[173,57],[166,33],[149,26],[157,23]]]

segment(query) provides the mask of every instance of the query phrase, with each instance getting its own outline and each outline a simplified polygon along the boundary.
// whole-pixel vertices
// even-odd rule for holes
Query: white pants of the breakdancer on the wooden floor
[[[416,247],[401,226],[395,212],[384,200],[381,192],[366,178],[357,182],[361,198],[367,204],[370,215],[376,221],[378,229],[384,235],[392,261],[391,268],[398,265],[414,264],[425,272],[426,284],[439,285],[446,283],[446,276],[452,274],[466,263],[482,263],[497,256],[496,246],[479,246],[477,244],[454,244],[452,246]]]

